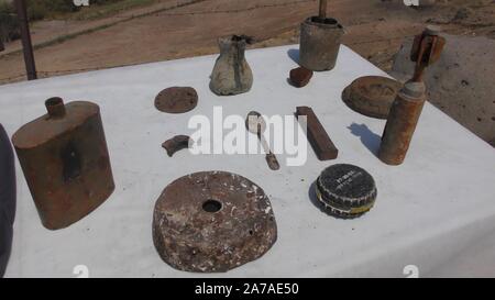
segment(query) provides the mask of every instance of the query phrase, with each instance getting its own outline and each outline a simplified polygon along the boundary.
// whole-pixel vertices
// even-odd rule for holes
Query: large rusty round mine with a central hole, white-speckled
[[[222,273],[257,259],[277,238],[275,215],[262,188],[231,173],[182,177],[160,196],[153,241],[172,267]]]

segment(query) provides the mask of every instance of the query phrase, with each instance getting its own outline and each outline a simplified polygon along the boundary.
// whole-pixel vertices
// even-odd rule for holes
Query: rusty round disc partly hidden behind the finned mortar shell
[[[392,103],[403,85],[381,76],[365,76],[354,80],[342,93],[352,110],[367,116],[387,119]]]

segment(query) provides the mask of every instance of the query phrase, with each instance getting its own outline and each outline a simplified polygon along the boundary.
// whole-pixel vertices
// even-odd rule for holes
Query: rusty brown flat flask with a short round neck
[[[86,101],[45,102],[47,114],[12,136],[45,227],[69,226],[98,208],[114,189],[100,109]]]

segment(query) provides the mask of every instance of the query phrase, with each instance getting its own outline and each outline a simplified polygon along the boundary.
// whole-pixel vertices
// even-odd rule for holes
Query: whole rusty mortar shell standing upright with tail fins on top
[[[427,27],[416,36],[411,60],[416,63],[413,78],[406,82],[391,108],[387,124],[382,135],[378,157],[387,165],[404,163],[410,141],[426,101],[425,69],[440,58],[446,40],[439,30]]]

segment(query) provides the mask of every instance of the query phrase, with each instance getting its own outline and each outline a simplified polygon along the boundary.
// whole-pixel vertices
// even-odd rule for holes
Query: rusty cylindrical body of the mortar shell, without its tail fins
[[[406,82],[394,100],[382,135],[378,157],[387,165],[400,165],[426,101],[422,82]]]

